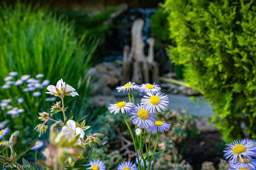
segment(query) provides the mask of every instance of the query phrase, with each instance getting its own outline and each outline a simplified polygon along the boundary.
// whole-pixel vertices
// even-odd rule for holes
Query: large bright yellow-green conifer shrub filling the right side
[[[169,47],[184,64],[185,81],[210,101],[212,121],[226,141],[256,138],[256,2],[254,0],[166,0]]]

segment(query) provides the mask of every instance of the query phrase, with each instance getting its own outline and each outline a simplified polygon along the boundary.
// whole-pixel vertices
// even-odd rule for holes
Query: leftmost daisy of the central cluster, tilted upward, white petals
[[[110,111],[110,113],[114,112],[114,114],[119,113],[119,111],[121,110],[121,112],[124,114],[129,112],[132,109],[133,105],[134,104],[131,102],[120,101],[115,104],[109,104],[108,110]]]

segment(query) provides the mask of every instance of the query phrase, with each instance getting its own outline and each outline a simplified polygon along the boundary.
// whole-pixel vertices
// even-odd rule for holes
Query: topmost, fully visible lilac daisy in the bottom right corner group
[[[223,150],[225,158],[231,162],[235,162],[237,158],[240,158],[240,160],[243,161],[243,158],[247,159],[251,155],[254,155],[255,151],[255,145],[252,142],[246,140],[246,138],[228,143]]]

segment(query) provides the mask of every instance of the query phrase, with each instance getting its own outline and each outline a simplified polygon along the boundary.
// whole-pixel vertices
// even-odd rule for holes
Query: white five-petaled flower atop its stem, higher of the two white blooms
[[[63,98],[65,95],[71,95],[72,97],[79,94],[75,91],[76,89],[72,86],[66,84],[66,82],[63,82],[62,78],[57,82],[57,85],[48,85],[47,90],[50,92],[46,92],[49,94],[53,94],[55,96],[59,96]]]

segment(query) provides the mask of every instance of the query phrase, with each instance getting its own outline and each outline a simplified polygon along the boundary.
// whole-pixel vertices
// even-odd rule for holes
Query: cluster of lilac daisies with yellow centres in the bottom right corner
[[[248,138],[228,143],[223,150],[230,170],[256,169],[256,141]]]

